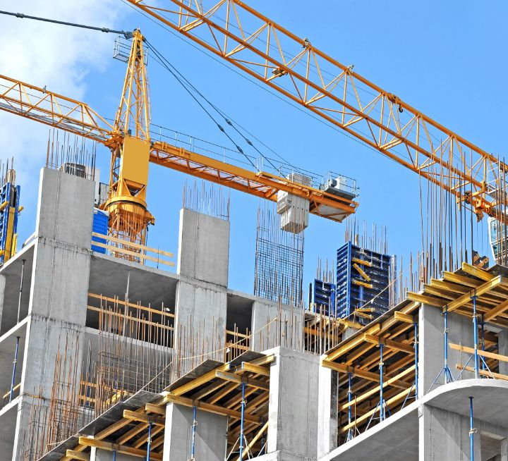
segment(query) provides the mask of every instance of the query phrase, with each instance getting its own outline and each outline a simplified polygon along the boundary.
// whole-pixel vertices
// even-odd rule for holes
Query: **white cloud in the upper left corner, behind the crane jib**
[[[99,27],[121,27],[119,0],[20,0],[5,9]],[[3,8],[4,9],[4,8]],[[123,11],[123,13],[122,13]],[[114,35],[0,16],[4,40],[0,73],[86,101],[87,75],[111,63]],[[14,157],[22,202],[35,205],[37,172],[46,159],[49,128],[0,111],[0,158]],[[24,199],[23,199],[24,197]]]

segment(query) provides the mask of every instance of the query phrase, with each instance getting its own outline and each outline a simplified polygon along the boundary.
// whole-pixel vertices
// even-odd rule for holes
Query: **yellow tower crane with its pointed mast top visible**
[[[298,175],[286,178],[266,171],[250,171],[152,140],[145,39],[139,30],[133,32],[131,39],[121,101],[112,124],[83,102],[0,75],[0,110],[83,136],[111,149],[109,195],[101,207],[109,212],[113,242],[145,245],[147,226],[155,222],[146,202],[150,163],[264,199],[280,201],[282,197],[289,208],[291,198],[301,199],[308,212],[333,221],[340,222],[355,212],[358,203],[354,196],[344,195],[333,184],[326,189],[314,187]],[[140,252],[138,246],[129,250]]]

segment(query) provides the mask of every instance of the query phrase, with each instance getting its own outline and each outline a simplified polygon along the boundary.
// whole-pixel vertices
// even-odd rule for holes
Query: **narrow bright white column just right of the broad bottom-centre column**
[[[317,407],[317,459],[339,446],[339,374],[329,368],[319,367]]]

